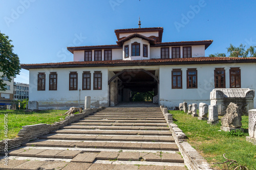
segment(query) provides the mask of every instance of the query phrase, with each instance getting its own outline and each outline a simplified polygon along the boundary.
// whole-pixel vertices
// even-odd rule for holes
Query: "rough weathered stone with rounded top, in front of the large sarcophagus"
[[[226,114],[221,118],[221,130],[223,131],[237,131],[243,129],[242,126],[242,109],[234,103],[230,103],[226,109]]]

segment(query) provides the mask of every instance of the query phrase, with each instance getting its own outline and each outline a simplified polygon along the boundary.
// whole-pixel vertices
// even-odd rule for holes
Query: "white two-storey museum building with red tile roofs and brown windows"
[[[212,40],[162,42],[163,28],[115,30],[113,45],[67,47],[74,61],[22,64],[29,70],[29,101],[39,109],[130,102],[132,92],[154,92],[170,109],[210,104],[215,88],[256,87],[256,58],[205,57]],[[254,106],[256,106],[254,100]],[[251,106],[252,107],[252,106]]]

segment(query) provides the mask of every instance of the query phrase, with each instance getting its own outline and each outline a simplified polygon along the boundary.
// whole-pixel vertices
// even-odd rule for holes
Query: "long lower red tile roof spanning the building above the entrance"
[[[234,57],[193,57],[176,59],[148,60],[110,60],[110,61],[71,61],[60,63],[21,64],[24,69],[36,68],[72,68],[72,67],[106,67],[106,66],[144,66],[144,65],[182,65],[182,64],[220,64],[220,63],[256,63],[256,58]]]

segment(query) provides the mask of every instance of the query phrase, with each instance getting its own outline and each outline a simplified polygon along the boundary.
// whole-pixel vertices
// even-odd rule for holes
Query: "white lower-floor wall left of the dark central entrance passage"
[[[84,106],[84,97],[91,96],[91,106],[109,106],[108,104],[108,68],[55,68],[55,69],[30,69],[29,71],[29,101],[37,101],[39,109],[69,109],[78,107],[79,90],[69,90],[70,71],[77,71],[78,89],[82,89],[82,72],[91,71],[91,90],[80,91],[80,106]],[[93,73],[102,72],[102,90],[93,90]],[[38,72],[46,73],[46,90],[37,90]],[[49,91],[49,73],[57,72],[57,90]]]

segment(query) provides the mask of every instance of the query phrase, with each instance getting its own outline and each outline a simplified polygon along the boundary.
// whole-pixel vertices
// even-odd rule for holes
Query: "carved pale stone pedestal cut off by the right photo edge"
[[[246,140],[256,145],[256,109],[249,110],[248,119],[250,136],[246,136]]]

